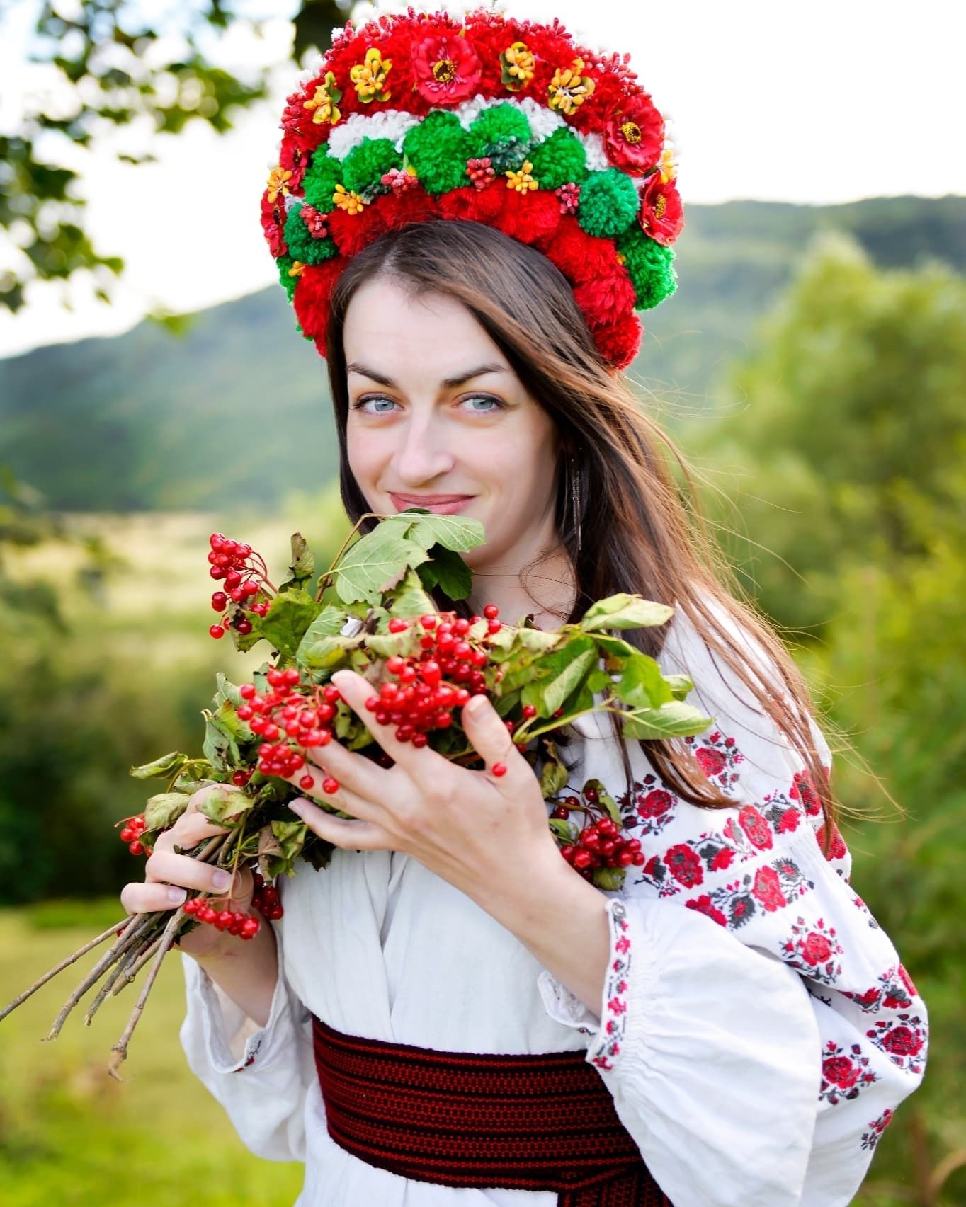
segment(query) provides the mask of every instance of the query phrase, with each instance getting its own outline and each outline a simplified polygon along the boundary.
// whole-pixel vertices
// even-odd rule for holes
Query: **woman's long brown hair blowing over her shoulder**
[[[568,623],[589,604],[617,591],[680,608],[706,642],[772,717],[810,772],[825,815],[824,853],[834,836],[838,804],[815,748],[809,688],[782,641],[753,604],[739,599],[729,567],[708,536],[693,477],[671,439],[644,413],[633,390],[598,352],[570,285],[540,251],[479,222],[432,218],[380,235],[345,266],[332,292],[326,351],[341,451],[341,489],[355,523],[371,508],[349,468],[345,428],[349,396],[343,327],[356,290],[373,278],[391,278],[413,296],[442,293],[462,303],[501,349],[528,392],[553,418],[560,466],[577,474],[575,514],[566,472],[558,472],[557,530],[570,556],[576,599]],[[682,472],[689,498],[679,492],[670,465]],[[367,520],[368,530],[376,521]],[[578,542],[577,533],[584,537]],[[587,533],[605,537],[590,542]],[[525,571],[524,567],[522,579]],[[726,588],[722,583],[729,579]],[[435,593],[442,608],[469,616],[465,601]],[[729,623],[731,622],[731,623]],[[756,665],[732,636],[737,625],[757,640],[780,676]],[[652,658],[667,636],[659,628],[628,630],[627,639]],[[767,659],[766,659],[767,661]],[[784,696],[785,706],[776,700]],[[611,718],[619,735],[619,721]],[[618,741],[628,792],[632,769]],[[680,739],[642,740],[646,757],[682,799],[704,809],[734,807],[734,799],[705,776]]]

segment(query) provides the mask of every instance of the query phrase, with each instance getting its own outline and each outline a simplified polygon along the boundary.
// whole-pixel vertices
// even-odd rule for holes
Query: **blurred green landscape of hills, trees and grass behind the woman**
[[[72,80],[115,12],[78,7],[80,49],[48,30]],[[327,42],[338,7],[301,5],[296,53]],[[101,25],[88,21],[94,10]],[[208,21],[223,25],[220,11]],[[260,94],[203,60],[178,71],[202,80],[213,123]],[[180,101],[144,97],[159,129],[187,121]],[[101,101],[88,95],[83,112],[127,119]],[[80,126],[68,133],[83,139]],[[0,151],[36,202],[19,221],[36,235],[22,245],[37,274],[98,267],[80,228],[52,234],[39,218],[58,191],[64,200],[66,177],[37,168],[29,139],[2,139]],[[12,215],[0,205],[0,225]],[[854,745],[833,781],[852,884],[930,1010],[924,1086],[900,1107],[855,1201],[956,1207],[966,198],[692,204],[675,250],[679,291],[644,315],[632,378],[694,466],[741,584]],[[0,284],[16,309],[21,282]],[[287,564],[296,531],[316,564],[338,548],[330,412],[324,365],[278,287],[0,360],[0,1005],[122,916],[117,894],[142,861],[116,823],[155,791],[128,768],[199,751],[216,671],[238,682],[264,659],[208,636],[209,533],[250,542],[269,571]],[[291,1203],[301,1167],[249,1154],[187,1069],[180,958],[161,973],[124,1085],[106,1062],[133,990],[89,1031],[78,1011],[41,1043],[91,963],[0,1024],[4,1203],[159,1207],[196,1190],[215,1207]]]

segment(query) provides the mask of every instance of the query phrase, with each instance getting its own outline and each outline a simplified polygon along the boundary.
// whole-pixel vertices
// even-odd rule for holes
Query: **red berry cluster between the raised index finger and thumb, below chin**
[[[495,604],[483,608],[487,631],[499,632],[502,628]],[[485,649],[475,649],[466,640],[475,620],[456,617],[454,612],[429,612],[419,620],[392,617],[390,632],[405,632],[418,624],[420,631],[418,658],[392,654],[385,660],[386,671],[394,678],[379,687],[378,695],[366,700],[366,709],[376,717],[377,724],[395,725],[396,740],[425,746],[433,729],[448,729],[453,724],[453,709],[461,707],[471,695],[485,695],[487,682],[483,667],[489,663]],[[454,683],[446,683],[449,677]]]

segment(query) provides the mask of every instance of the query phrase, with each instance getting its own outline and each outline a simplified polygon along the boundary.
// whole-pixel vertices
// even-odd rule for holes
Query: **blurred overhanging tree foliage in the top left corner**
[[[312,49],[328,46],[348,10],[349,0],[302,0],[292,14],[292,57],[299,65]],[[91,147],[105,132],[145,118],[155,134],[178,134],[191,121],[219,134],[232,129],[239,110],[268,95],[270,64],[238,78],[217,65],[219,39],[238,25],[261,36],[267,19],[242,17],[222,0],[193,0],[155,28],[135,0],[45,0],[30,62],[53,68],[57,87],[27,98],[19,128],[0,134],[0,227],[23,252],[21,268],[0,274],[0,305],[17,311],[28,281],[66,281],[80,269],[92,272],[97,296],[111,301],[124,261],[93,246],[76,192],[78,173],[58,163],[56,150],[51,158],[48,148],[58,140]],[[2,29],[0,19],[0,35]],[[64,109],[72,111],[63,116]],[[155,161],[150,151],[117,158]]]

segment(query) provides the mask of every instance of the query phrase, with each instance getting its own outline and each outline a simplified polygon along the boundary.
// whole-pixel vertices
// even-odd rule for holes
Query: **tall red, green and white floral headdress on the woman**
[[[634,311],[675,290],[683,217],[664,119],[628,60],[488,8],[349,22],[287,98],[262,197],[302,334],[325,356],[332,286],[378,235],[471,218],[543,252],[601,355],[629,365]]]

